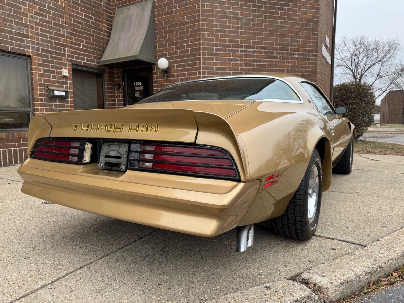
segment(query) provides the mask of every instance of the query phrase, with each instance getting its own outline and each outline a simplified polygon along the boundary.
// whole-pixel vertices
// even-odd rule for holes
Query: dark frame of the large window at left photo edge
[[[28,76],[28,94],[29,94],[29,107],[5,107],[0,106],[0,112],[11,112],[11,113],[21,113],[25,112],[29,114],[29,122],[32,119],[32,113],[34,112],[34,104],[32,102],[32,77],[31,77],[31,56],[21,55],[11,52],[6,52],[0,50],[0,55],[5,57],[13,57],[18,59],[23,59],[27,61],[27,76]],[[29,124],[28,122],[28,124]],[[28,128],[0,128],[0,133],[26,133]]]

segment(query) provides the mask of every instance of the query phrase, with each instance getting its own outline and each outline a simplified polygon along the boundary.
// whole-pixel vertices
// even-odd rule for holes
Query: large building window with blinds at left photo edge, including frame
[[[29,57],[0,52],[0,131],[28,128],[31,89]]]

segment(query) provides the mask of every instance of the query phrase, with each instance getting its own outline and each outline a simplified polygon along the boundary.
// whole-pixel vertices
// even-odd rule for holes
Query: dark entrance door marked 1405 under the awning
[[[123,72],[124,105],[132,105],[152,93],[151,67],[125,69]]]

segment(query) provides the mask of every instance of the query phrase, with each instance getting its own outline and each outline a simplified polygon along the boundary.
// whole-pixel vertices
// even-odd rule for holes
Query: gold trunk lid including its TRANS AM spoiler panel
[[[52,126],[50,137],[196,141],[195,112],[222,119],[253,101],[180,101],[145,103],[120,109],[90,109],[44,114]]]

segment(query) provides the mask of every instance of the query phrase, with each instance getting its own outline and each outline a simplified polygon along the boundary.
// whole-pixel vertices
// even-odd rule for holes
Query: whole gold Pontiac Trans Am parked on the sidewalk
[[[308,240],[355,127],[316,84],[257,74],[174,84],[120,109],[35,116],[22,191],[143,225],[213,237],[254,223]]]

